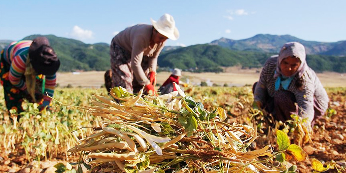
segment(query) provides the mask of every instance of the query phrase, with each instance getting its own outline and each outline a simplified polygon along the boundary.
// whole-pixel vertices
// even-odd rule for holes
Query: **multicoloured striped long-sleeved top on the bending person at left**
[[[31,43],[32,40],[13,41],[3,50],[3,58],[5,62],[10,65],[8,79],[12,85],[16,86],[20,90],[27,89],[23,75],[25,73]],[[56,75],[46,75],[45,78],[46,82],[44,93],[47,92],[48,96],[53,97],[56,84]],[[44,96],[43,100],[45,102],[51,101],[48,96]]]

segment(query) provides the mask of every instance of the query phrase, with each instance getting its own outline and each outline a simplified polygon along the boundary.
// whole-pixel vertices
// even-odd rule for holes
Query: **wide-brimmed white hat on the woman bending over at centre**
[[[170,14],[164,14],[160,17],[158,21],[150,18],[153,27],[162,35],[167,36],[172,40],[177,40],[179,38],[179,31],[175,27],[175,21],[173,16]]]

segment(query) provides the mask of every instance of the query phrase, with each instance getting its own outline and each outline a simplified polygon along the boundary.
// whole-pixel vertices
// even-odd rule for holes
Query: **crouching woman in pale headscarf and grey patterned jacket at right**
[[[254,107],[265,109],[279,121],[291,114],[308,118],[311,125],[328,108],[328,95],[306,62],[301,43],[285,43],[278,56],[265,63],[254,86]]]

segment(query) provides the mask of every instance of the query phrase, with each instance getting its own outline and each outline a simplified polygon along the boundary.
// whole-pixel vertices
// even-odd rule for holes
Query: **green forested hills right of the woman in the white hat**
[[[242,66],[260,68],[274,53],[236,51],[216,45],[200,44],[163,52],[160,67],[179,68],[196,72],[221,72],[220,67]],[[346,57],[307,55],[307,62],[316,72],[346,72]]]

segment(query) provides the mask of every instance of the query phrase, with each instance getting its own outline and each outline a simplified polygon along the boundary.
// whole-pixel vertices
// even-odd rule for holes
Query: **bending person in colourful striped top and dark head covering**
[[[8,110],[23,111],[23,99],[50,108],[60,61],[46,37],[13,41],[1,51],[0,79]],[[46,95],[46,93],[48,95]]]

